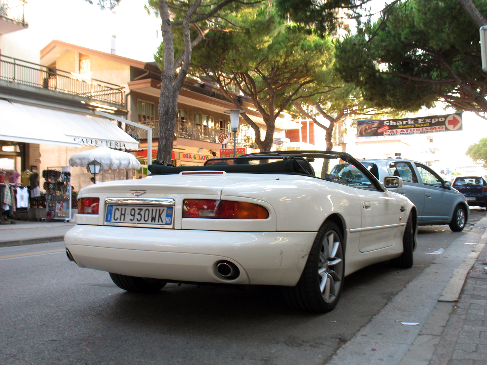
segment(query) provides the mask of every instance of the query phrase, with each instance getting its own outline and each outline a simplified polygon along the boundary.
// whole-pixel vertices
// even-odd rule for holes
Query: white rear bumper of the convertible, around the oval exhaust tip
[[[169,281],[288,285],[298,282],[316,232],[222,232],[76,225],[65,246],[80,267]],[[220,260],[240,276],[216,273]]]

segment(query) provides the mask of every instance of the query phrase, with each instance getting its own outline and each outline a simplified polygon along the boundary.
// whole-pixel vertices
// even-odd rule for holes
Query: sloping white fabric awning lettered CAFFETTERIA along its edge
[[[4,113],[4,110],[8,112]],[[110,119],[15,101],[0,99],[0,126],[0,140],[62,146],[105,144],[112,148],[139,148],[139,143]]]

